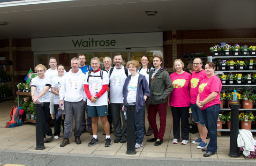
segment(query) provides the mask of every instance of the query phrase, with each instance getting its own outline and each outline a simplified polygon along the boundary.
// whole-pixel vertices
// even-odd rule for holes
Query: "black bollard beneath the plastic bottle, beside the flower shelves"
[[[239,108],[240,104],[229,104],[231,109],[231,125],[230,125],[230,146],[229,156],[240,157],[239,149],[237,147],[237,136],[239,132]]]

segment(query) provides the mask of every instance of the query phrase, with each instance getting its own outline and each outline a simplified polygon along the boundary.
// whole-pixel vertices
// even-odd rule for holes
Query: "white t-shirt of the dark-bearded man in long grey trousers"
[[[110,71],[110,70],[109,70]],[[128,76],[131,73],[128,70]],[[108,72],[109,76],[109,72]],[[125,79],[127,78],[124,70],[124,66],[121,69],[116,69],[114,67],[111,76],[109,77],[110,88],[109,88],[109,100],[110,103],[123,103],[123,86]]]

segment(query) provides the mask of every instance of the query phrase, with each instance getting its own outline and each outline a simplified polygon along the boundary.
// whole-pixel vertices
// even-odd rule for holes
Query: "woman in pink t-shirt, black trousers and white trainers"
[[[181,144],[188,144],[189,123],[188,112],[190,107],[190,80],[191,74],[184,72],[184,63],[180,59],[174,61],[173,70],[170,75],[173,91],[168,96],[167,105],[171,106],[173,118],[173,144],[177,144],[180,139],[180,119],[181,119]]]

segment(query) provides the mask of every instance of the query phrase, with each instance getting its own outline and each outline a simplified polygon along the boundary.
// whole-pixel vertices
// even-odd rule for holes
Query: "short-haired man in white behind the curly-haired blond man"
[[[53,77],[56,77],[58,75],[58,71],[57,71],[57,59],[55,57],[50,57],[49,59],[49,65],[50,65],[50,69],[46,70],[45,72],[45,76],[52,79]],[[64,75],[66,74],[66,70],[64,70]],[[53,104],[53,99],[54,99],[54,94],[52,93],[52,89],[49,89],[49,98],[50,98],[50,113],[53,114],[54,112],[54,104]]]

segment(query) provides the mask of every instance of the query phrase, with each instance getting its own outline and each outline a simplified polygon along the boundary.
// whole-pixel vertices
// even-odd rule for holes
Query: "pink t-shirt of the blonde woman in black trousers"
[[[189,107],[190,95],[189,86],[191,74],[184,72],[177,74],[177,72],[170,75],[173,85],[173,91],[170,94],[170,105],[173,107]]]

